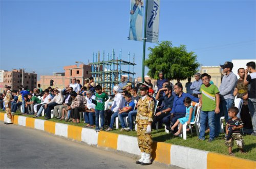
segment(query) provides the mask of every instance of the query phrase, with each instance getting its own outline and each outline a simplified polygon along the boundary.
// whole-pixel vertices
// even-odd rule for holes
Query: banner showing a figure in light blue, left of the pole
[[[142,41],[143,0],[131,0],[129,40]]]

